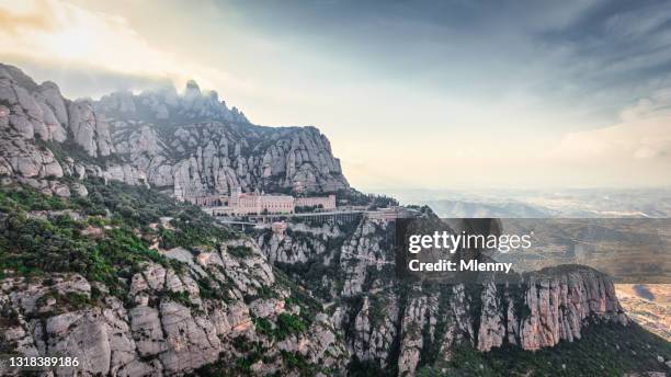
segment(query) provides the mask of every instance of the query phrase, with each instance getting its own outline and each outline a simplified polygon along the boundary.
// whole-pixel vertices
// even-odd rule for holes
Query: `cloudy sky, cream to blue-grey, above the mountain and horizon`
[[[671,2],[0,0],[66,96],[195,79],[359,188],[671,185]]]

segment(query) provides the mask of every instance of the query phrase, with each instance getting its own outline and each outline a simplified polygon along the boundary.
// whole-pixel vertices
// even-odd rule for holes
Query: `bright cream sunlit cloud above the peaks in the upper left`
[[[170,79],[182,85],[196,79],[205,87],[244,85],[220,69],[153,47],[118,15],[59,0],[0,1],[0,50],[52,66],[95,67],[101,71]]]

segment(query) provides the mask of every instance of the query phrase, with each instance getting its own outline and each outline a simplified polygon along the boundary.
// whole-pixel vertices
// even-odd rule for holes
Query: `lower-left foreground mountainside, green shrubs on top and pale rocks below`
[[[81,207],[88,198],[10,184],[0,186],[1,353],[77,357],[84,376],[183,376],[213,365],[234,375],[345,369],[331,316],[278,276],[252,240],[200,209],[167,197],[136,208],[147,198],[128,186],[112,196],[87,182],[100,201]],[[31,210],[35,203],[61,209]],[[208,235],[197,236],[203,229]],[[20,373],[0,365],[0,375]]]

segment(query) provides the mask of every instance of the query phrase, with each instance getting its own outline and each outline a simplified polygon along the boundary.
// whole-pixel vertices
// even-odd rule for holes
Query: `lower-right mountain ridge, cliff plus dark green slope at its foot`
[[[606,375],[666,370],[645,349],[656,344],[666,355],[668,342],[628,319],[605,275],[565,265],[524,274],[514,284],[408,284],[394,272],[395,231],[393,222],[362,220],[255,233],[271,262],[327,302],[344,329],[353,375],[505,376],[513,366],[520,375],[554,375],[562,364],[570,376],[600,375],[602,366]],[[595,335],[601,331],[609,336]],[[618,338],[619,331],[628,335]],[[615,355],[627,336],[642,364]],[[559,351],[573,342],[605,342],[610,354]],[[538,352],[542,357],[534,356]],[[477,364],[464,365],[463,357]],[[537,365],[528,363],[534,357]]]

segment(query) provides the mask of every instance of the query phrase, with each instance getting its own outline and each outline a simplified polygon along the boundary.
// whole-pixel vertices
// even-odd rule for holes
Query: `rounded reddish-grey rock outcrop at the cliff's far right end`
[[[594,270],[548,269],[528,275],[523,287],[523,306],[505,286],[490,283],[485,287],[478,350],[501,346],[504,340],[524,350],[553,346],[562,340],[572,342],[580,339],[582,327],[590,320],[628,324],[613,283]],[[503,290],[502,299],[498,290]],[[522,309],[515,310],[515,306]]]

